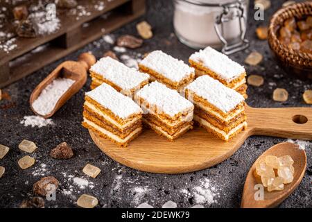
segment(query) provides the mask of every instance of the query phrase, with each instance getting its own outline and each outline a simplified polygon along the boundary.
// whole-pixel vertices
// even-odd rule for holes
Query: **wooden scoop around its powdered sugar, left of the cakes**
[[[49,76],[46,76],[42,82],[37,85],[37,87],[33,90],[31,94],[31,99],[29,100],[31,104],[31,110],[35,112],[35,114],[42,116],[44,118],[49,118],[58,111],[64,103],[66,103],[71,96],[76,94],[82,87],[85,85],[87,81],[87,70],[94,65],[96,62],[96,58],[91,53],[82,53],[78,57],[78,62],[75,61],[66,61],[62,62],[56,69],[54,69]],[[58,102],[55,104],[52,112],[46,115],[42,115],[37,113],[33,108],[33,102],[40,96],[42,90],[47,87],[50,83],[52,83],[55,78],[70,78],[75,80],[75,83],[67,89],[66,92],[60,97]]]

